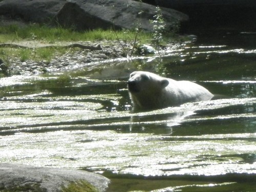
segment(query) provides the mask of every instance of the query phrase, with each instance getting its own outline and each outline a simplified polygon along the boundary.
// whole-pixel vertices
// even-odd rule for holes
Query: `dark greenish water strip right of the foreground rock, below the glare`
[[[225,176],[174,176],[168,177],[142,177],[134,175],[113,175],[105,173],[112,178],[108,191],[253,191],[255,177],[246,174],[227,174]],[[228,179],[227,179],[228,178]],[[118,185],[118,183],[122,185]],[[246,190],[244,187],[246,185]],[[172,187],[170,187],[172,186]],[[158,190],[161,188],[161,190]],[[128,189],[128,190],[127,190]]]

